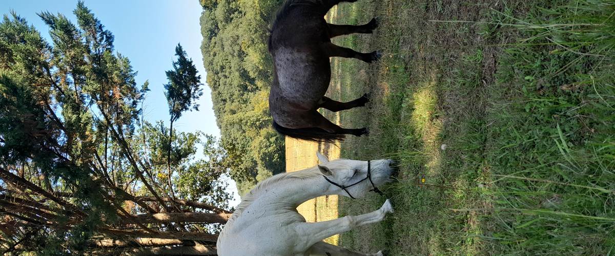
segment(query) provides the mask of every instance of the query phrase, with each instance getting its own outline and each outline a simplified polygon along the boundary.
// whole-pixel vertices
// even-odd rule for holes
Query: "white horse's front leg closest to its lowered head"
[[[301,222],[296,224],[295,230],[300,237],[309,239],[309,244],[315,244],[329,236],[344,233],[355,227],[381,222],[389,212],[393,212],[393,207],[391,206],[391,202],[387,199],[380,209],[368,214],[346,216],[335,220],[327,220],[325,222]]]

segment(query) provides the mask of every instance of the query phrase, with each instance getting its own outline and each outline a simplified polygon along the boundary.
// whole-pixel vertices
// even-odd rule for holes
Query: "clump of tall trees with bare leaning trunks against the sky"
[[[173,130],[202,95],[181,45],[167,127],[143,119],[150,85],[83,2],[76,24],[38,15],[50,42],[15,13],[0,22],[0,254],[215,254],[236,152]]]

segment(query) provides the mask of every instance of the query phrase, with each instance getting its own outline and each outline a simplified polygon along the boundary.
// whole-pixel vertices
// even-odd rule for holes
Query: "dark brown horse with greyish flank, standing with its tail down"
[[[331,80],[329,57],[357,58],[371,63],[380,53],[360,53],[331,43],[331,37],[371,33],[375,19],[360,26],[333,25],[324,16],[339,2],[357,0],[287,0],[274,21],[269,53],[274,61],[274,80],[269,95],[273,127],[280,134],[309,141],[334,142],[344,134],[361,136],[367,128],[346,129],[331,123],[317,110],[333,112],[365,106],[367,95],[347,103],[325,97]]]

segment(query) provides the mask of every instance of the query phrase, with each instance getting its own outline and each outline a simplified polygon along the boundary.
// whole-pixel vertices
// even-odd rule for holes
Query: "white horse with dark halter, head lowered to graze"
[[[383,255],[360,254],[322,239],[369,223],[380,222],[393,212],[391,202],[373,212],[310,223],[296,208],[323,195],[360,198],[389,182],[392,160],[334,160],[317,153],[320,165],[263,180],[242,198],[218,237],[218,254],[306,256]]]

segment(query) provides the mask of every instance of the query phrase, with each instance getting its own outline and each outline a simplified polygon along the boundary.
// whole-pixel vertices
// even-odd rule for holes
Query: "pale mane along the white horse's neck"
[[[269,179],[259,182],[256,187],[252,188],[252,190],[250,190],[250,192],[248,192],[241,199],[241,203],[239,203],[239,205],[231,215],[231,218],[226,222],[226,225],[229,225],[234,222],[234,220],[236,220],[241,215],[244,209],[248,208],[248,206],[252,204],[255,198],[257,198],[258,195],[260,195],[260,192],[263,191],[265,188],[274,187],[280,182],[290,182],[289,180],[292,179],[310,179],[312,177],[319,176],[322,176],[322,173],[320,173],[317,166],[314,166],[312,168],[303,169],[301,171],[276,174]]]

